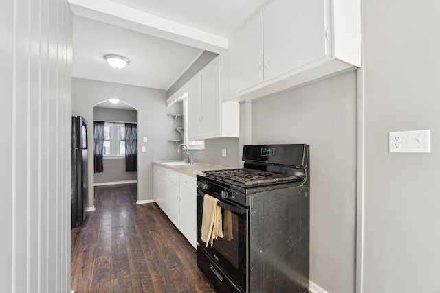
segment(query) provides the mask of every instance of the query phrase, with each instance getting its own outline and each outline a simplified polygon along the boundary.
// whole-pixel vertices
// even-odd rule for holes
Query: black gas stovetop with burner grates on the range
[[[203,173],[208,174],[206,176],[208,178],[214,178],[241,187],[256,187],[260,185],[298,181],[298,177],[296,176],[255,169],[225,169],[203,171]]]

